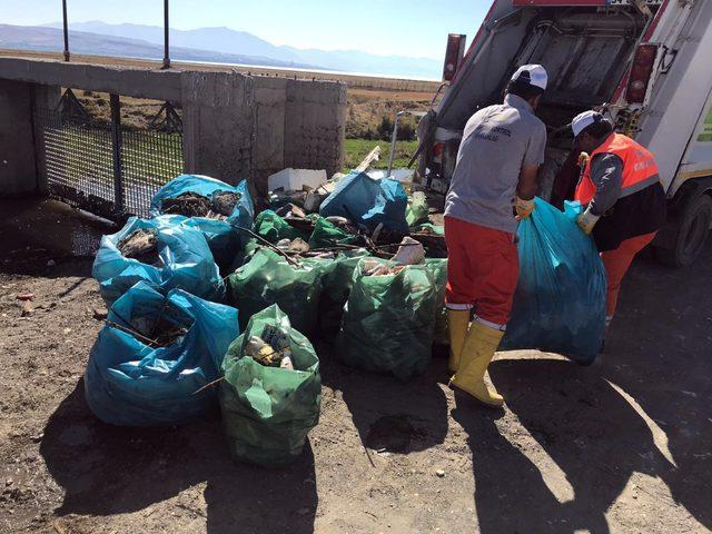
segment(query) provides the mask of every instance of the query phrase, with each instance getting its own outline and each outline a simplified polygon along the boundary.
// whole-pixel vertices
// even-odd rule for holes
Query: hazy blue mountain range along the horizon
[[[164,29],[158,26],[75,22],[69,48],[77,53],[161,59]],[[61,23],[39,27],[0,24],[0,48],[61,50]],[[394,78],[438,79],[442,63],[431,58],[378,56],[358,50],[318,50],[275,46],[229,28],[170,30],[172,59],[265,67],[337,70]]]

